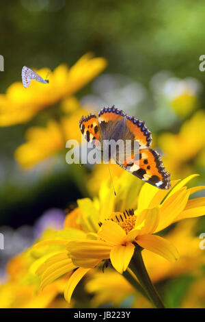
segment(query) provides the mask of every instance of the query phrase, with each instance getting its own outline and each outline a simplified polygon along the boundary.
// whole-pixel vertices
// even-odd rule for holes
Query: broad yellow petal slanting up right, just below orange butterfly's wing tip
[[[167,197],[160,209],[160,221],[155,232],[163,230],[165,227],[171,225],[176,217],[182,212],[187,205],[189,199],[189,192],[187,188],[181,188],[176,191],[171,197]]]

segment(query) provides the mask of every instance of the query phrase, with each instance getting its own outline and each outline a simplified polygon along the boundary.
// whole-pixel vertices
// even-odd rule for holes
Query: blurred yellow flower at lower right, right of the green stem
[[[146,249],[143,251],[144,262],[153,282],[160,282],[185,273],[197,275],[205,264],[205,253],[199,247],[199,236],[195,235],[196,223],[195,219],[180,221],[171,232],[165,235],[165,238],[174,243],[178,249],[180,258],[175,264],[167,262]]]

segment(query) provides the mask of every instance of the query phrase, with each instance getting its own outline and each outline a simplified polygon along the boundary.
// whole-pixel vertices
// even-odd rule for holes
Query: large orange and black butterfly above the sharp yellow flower
[[[82,116],[79,126],[87,142],[92,143],[94,147],[97,147],[98,143],[102,143],[103,140],[137,141],[139,144],[138,160],[132,156],[130,162],[127,159],[120,162],[118,158],[115,162],[124,170],[152,186],[161,189],[171,188],[170,174],[165,170],[159,153],[150,149],[152,135],[144,121],[139,121],[134,116],[112,106],[102,108],[98,113],[98,118],[93,113]]]

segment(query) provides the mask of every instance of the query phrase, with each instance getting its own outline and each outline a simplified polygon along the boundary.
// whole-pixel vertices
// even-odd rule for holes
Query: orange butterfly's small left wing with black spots
[[[98,142],[101,142],[99,123],[95,114],[90,113],[87,116],[82,116],[79,126],[87,142],[92,143],[93,146],[97,146]]]

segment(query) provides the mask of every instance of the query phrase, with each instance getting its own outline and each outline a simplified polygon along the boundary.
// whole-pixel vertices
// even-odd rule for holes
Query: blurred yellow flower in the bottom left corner
[[[0,308],[48,308],[55,302],[55,298],[63,292],[64,280],[50,284],[46,290],[36,293],[37,281],[23,282],[28,273],[29,262],[27,253],[21,253],[8,262],[6,282],[0,282]],[[60,306],[67,306],[61,298]]]

